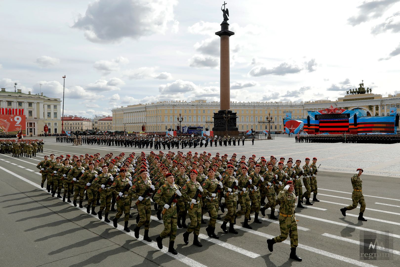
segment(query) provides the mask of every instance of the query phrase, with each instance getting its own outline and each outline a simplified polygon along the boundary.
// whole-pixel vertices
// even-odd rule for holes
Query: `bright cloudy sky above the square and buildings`
[[[220,4],[1,2],[0,86],[62,98],[66,75],[64,114],[86,117],[128,104],[219,100]],[[226,7],[232,101],[336,100],[361,80],[373,93],[400,92],[400,0]]]

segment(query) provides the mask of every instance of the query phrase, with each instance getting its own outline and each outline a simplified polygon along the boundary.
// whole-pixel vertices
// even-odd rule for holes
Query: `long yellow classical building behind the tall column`
[[[336,101],[321,99],[305,102],[231,102],[233,112],[237,112],[236,124],[239,132],[246,130],[268,129],[268,114],[272,116],[270,130],[282,132],[283,118],[286,113],[292,113],[292,119],[306,118],[308,111],[317,111],[333,106],[335,108],[362,108],[367,116],[384,116],[389,109],[399,107],[400,94],[383,97],[381,94],[347,95]],[[179,126],[179,114],[183,117],[182,126],[201,126],[211,129],[214,126],[213,115],[218,112],[219,102],[206,100],[162,101],[156,103],[136,104],[114,108],[112,110],[113,130],[165,132]],[[400,111],[400,108],[399,108]]]

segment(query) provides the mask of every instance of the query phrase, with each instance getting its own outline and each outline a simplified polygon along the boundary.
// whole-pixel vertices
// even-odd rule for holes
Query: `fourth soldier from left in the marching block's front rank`
[[[224,233],[228,233],[226,224],[229,222],[229,233],[238,234],[238,231],[236,231],[233,226],[235,224],[236,215],[236,195],[238,194],[236,190],[238,189],[239,181],[233,176],[233,169],[233,165],[228,165],[228,174],[224,175],[221,179],[222,181],[220,181],[220,186],[222,184],[224,191],[227,192],[227,195],[225,195],[225,205],[228,209],[228,213],[226,213],[224,217],[224,223],[222,223],[221,229]]]

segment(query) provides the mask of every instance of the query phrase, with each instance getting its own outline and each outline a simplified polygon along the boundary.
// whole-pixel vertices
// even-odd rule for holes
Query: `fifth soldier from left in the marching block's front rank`
[[[240,210],[236,212],[235,215],[235,223],[236,217],[242,216],[244,214],[244,228],[253,229],[250,225],[248,225],[248,221],[250,219],[250,197],[249,197],[249,188],[252,188],[252,180],[247,175],[247,167],[242,167],[242,174],[238,175],[236,179],[239,181],[238,191],[240,203]]]

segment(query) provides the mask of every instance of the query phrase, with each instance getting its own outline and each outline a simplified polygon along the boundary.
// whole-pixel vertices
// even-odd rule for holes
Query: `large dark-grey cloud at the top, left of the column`
[[[90,42],[98,43],[164,34],[168,23],[174,22],[176,4],[176,0],[98,0],[88,5],[85,15],[80,15],[72,27],[83,30]]]

